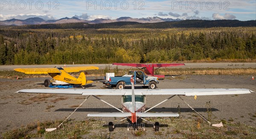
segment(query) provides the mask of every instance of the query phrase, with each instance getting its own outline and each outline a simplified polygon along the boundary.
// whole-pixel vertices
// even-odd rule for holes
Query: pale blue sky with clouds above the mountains
[[[256,0],[0,0],[0,20],[73,16],[256,20]]]

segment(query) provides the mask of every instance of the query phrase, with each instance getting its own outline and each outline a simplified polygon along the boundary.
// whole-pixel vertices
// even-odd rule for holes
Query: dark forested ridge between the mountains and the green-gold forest
[[[122,19],[121,19],[122,20]],[[159,23],[138,23],[138,22],[112,22],[112,23],[63,23],[63,24],[41,24],[12,26],[10,28],[47,28],[47,29],[67,29],[67,28],[212,28],[212,27],[255,27],[256,20],[181,20]]]

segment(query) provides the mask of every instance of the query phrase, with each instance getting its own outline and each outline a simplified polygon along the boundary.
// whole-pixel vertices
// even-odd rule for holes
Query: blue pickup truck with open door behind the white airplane
[[[142,86],[143,88],[155,89],[159,83],[157,77],[147,76],[143,71],[129,71],[123,76],[105,77],[103,84],[105,87],[111,85],[112,88],[123,89],[125,86],[131,86],[131,77],[134,79],[135,86]]]

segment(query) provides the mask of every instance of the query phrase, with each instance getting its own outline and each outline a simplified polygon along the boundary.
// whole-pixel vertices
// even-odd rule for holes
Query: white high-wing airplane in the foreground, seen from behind
[[[162,104],[163,102],[171,99],[172,97],[178,95],[180,96],[202,96],[202,95],[229,95],[229,94],[249,94],[253,91],[249,89],[237,89],[237,88],[228,88],[228,89],[136,89],[134,90],[134,79],[131,78],[132,89],[23,89],[17,91],[16,93],[49,93],[49,94],[81,94],[81,95],[90,95],[96,97],[97,99],[105,102],[96,95],[120,95],[122,96],[122,110],[116,108],[115,106],[105,102],[111,107],[117,109],[120,112],[113,113],[89,113],[89,117],[124,117],[124,119],[119,122],[127,119],[129,124],[127,129],[143,129],[145,130],[145,124],[142,123],[142,120],[145,120],[144,117],[177,117],[177,113],[147,113],[152,108],[157,105]],[[162,102],[154,105],[152,108],[145,110],[146,95],[172,95],[169,98],[163,100]],[[87,97],[87,98],[88,98]],[[180,97],[181,98],[181,97]],[[181,98],[182,99],[182,98]],[[192,108],[192,107],[190,107]],[[198,113],[199,114],[199,113]],[[147,121],[147,120],[145,120]],[[153,124],[154,130],[159,130],[159,122]],[[108,123],[109,131],[113,131],[115,125],[113,122]]]

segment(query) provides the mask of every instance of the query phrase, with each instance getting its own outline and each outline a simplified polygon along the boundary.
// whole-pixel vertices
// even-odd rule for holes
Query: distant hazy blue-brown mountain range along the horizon
[[[97,18],[95,20],[82,20],[77,17],[65,17],[58,20],[44,20],[39,17],[32,17],[26,20],[10,19],[0,21],[0,26],[22,26],[22,25],[41,25],[41,24],[61,24],[61,23],[113,23],[113,22],[138,22],[138,23],[159,23],[159,22],[171,22],[181,21],[183,19],[172,19],[172,18],[160,18],[160,17],[147,17],[147,18],[131,18],[131,17],[120,17],[114,20]]]

